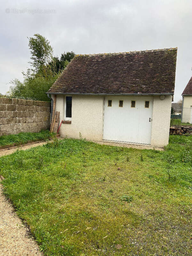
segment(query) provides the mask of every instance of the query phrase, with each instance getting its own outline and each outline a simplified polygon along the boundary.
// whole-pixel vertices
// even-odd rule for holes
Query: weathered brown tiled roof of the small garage
[[[48,93],[174,93],[177,48],[76,55]]]

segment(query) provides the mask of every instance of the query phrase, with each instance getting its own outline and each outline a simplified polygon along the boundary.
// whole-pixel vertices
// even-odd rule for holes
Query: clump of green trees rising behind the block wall
[[[7,94],[13,98],[49,100],[45,92],[56,81],[75,53],[64,52],[59,59],[57,56],[53,57],[50,42],[44,36],[35,34],[28,39],[31,67],[27,72],[23,72],[23,83],[17,78],[10,82],[11,86]]]

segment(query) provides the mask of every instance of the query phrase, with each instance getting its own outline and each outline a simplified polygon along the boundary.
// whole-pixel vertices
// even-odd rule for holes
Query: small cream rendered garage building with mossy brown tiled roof
[[[176,57],[177,48],[76,55],[47,92],[61,136],[167,145]]]

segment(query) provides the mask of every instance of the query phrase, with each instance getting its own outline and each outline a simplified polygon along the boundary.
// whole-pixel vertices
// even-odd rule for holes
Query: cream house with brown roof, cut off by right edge
[[[181,95],[183,97],[182,122],[192,124],[192,77]]]

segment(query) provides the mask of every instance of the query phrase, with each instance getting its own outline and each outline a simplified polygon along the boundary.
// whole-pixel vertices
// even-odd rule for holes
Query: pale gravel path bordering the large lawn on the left
[[[35,143],[20,148],[0,151],[0,156],[12,154],[17,149],[25,150],[46,142]],[[39,247],[28,229],[22,224],[13,206],[3,194],[0,184],[0,256],[42,256]]]

